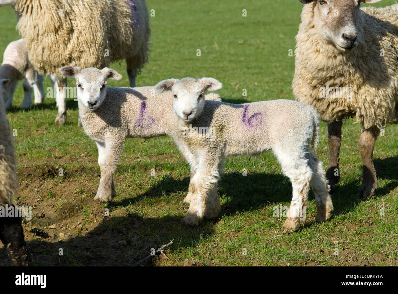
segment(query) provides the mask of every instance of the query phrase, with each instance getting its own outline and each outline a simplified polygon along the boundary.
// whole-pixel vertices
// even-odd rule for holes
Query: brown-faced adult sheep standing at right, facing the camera
[[[318,110],[328,123],[331,188],[340,179],[342,121],[362,124],[359,153],[363,180],[357,196],[377,189],[373,148],[380,129],[398,122],[398,4],[361,8],[381,0],[299,0],[306,4],[296,37],[296,99]]]

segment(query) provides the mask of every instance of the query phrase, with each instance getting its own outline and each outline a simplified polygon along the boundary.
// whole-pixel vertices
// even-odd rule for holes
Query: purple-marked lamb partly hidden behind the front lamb
[[[156,94],[153,87],[107,87],[108,78],[121,78],[119,73],[109,68],[100,70],[66,66],[59,71],[64,76],[76,79],[82,126],[98,147],[101,179],[94,199],[111,201],[116,197],[113,174],[127,137],[170,135],[175,140],[179,139],[171,96],[168,93]],[[221,101],[220,96],[213,93],[205,98]],[[187,148],[182,151],[189,156]]]

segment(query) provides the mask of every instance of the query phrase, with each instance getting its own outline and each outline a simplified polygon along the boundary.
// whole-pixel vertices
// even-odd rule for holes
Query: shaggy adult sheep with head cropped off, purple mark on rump
[[[17,29],[40,74],[51,74],[57,93],[55,124],[66,119],[65,65],[103,68],[126,59],[130,86],[148,59],[145,0],[0,0],[18,15]]]

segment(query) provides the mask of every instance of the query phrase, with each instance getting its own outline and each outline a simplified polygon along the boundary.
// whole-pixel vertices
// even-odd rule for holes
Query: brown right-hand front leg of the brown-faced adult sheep
[[[362,127],[358,143],[363,164],[362,184],[357,194],[359,199],[367,200],[372,198],[375,190],[378,188],[375,166],[373,165],[373,149],[375,148],[378,134],[379,130],[377,127],[369,129]]]

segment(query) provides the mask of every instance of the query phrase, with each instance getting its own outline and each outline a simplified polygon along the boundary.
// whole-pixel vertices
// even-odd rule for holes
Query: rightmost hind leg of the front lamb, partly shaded
[[[315,194],[316,221],[326,221],[332,216],[333,204],[329,194],[329,185],[325,177],[322,164],[314,153],[307,153],[308,165],[313,174],[311,180],[312,191]]]

